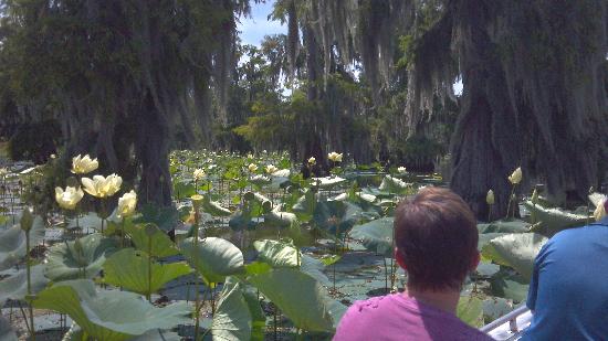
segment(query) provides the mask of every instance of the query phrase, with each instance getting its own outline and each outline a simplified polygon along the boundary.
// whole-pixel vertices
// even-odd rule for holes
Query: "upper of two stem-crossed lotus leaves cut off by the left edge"
[[[17,220],[17,219],[15,219]],[[17,220],[19,222],[19,220]],[[44,223],[36,216],[30,230],[30,247],[34,247],[44,238]],[[0,271],[9,269],[21,258],[25,257],[25,233],[19,223],[0,231]]]

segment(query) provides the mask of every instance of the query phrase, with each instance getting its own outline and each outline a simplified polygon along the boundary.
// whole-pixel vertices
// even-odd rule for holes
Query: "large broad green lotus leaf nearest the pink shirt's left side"
[[[292,268],[251,276],[249,281],[273,301],[297,328],[307,331],[333,331],[333,319],[321,284],[307,274]]]

